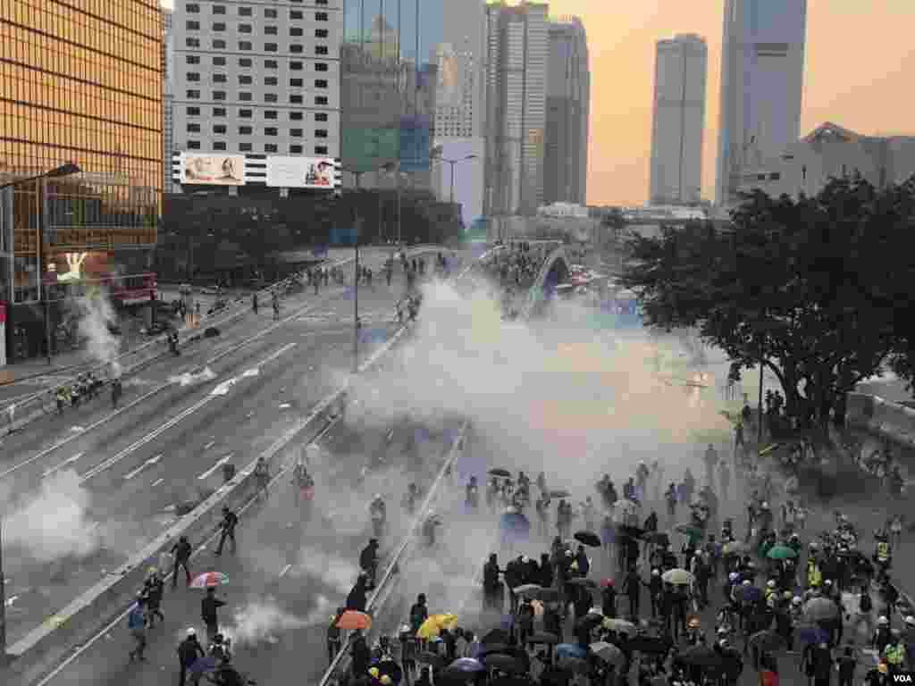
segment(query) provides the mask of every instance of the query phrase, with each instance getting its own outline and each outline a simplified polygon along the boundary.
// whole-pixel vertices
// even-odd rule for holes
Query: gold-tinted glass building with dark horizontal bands
[[[155,284],[162,76],[158,0],[0,0],[0,187],[81,169],[0,191],[7,357],[44,349],[41,283],[54,331],[92,284],[124,306]]]

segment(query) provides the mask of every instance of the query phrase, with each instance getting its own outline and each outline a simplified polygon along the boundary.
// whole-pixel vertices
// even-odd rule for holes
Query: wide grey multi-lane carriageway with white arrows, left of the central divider
[[[395,276],[390,288],[376,278],[373,288],[360,289],[362,359],[397,329],[393,302],[403,292],[403,276]],[[308,306],[300,314],[294,314],[296,304],[286,301],[281,321],[274,322],[266,307],[231,336],[201,341],[181,358],[164,359],[126,380],[118,411],[112,411],[108,398],[100,398],[6,440],[0,484],[13,494],[27,494],[24,498],[34,498],[45,487],[51,493],[38,501],[38,509],[50,511],[41,513],[45,523],[35,531],[27,520],[6,521],[11,642],[164,531],[183,503],[218,488],[224,462],[247,465],[345,381],[351,363],[352,295],[338,288],[318,303],[310,297],[303,299]],[[261,337],[212,361],[255,334]],[[53,533],[48,530],[57,526],[54,518],[67,511],[60,489],[72,494],[77,486],[88,501],[87,526],[79,537],[89,541],[88,553],[48,542]],[[6,507],[9,511],[15,505]],[[60,524],[62,530],[73,528],[70,522]],[[17,525],[29,532],[22,526],[11,531]],[[27,541],[21,541],[23,536]],[[29,549],[47,550],[48,545],[71,554]]]

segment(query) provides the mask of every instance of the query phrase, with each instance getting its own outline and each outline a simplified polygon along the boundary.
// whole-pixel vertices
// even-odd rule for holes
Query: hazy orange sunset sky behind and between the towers
[[[697,33],[708,43],[703,195],[714,200],[725,0],[552,0],[577,15],[591,59],[589,204],[648,198],[654,42]],[[622,9],[625,7],[625,9]],[[801,134],[831,121],[861,134],[915,134],[913,0],[809,0]]]

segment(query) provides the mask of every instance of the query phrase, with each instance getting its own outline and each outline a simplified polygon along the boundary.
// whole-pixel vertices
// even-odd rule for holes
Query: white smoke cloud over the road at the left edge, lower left
[[[21,547],[39,562],[67,555],[85,556],[100,545],[98,529],[87,520],[90,493],[80,475],[61,471],[41,482],[34,497],[14,503],[5,516],[4,544]]]

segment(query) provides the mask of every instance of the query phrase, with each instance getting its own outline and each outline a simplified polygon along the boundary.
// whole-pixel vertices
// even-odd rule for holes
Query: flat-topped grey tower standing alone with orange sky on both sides
[[[691,204],[702,199],[705,131],[705,39],[682,34],[659,40],[654,68],[651,127],[651,204]]]

